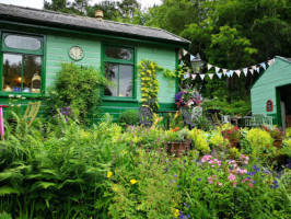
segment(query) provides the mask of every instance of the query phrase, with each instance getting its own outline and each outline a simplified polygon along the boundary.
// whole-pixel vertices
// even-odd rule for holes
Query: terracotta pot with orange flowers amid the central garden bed
[[[189,150],[189,130],[178,127],[167,130],[164,136],[165,150],[168,154],[179,155]]]

